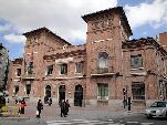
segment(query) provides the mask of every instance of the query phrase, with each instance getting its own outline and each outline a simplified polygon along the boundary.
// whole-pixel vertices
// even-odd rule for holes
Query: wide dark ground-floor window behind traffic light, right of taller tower
[[[133,100],[145,100],[145,84],[133,82],[132,84]]]

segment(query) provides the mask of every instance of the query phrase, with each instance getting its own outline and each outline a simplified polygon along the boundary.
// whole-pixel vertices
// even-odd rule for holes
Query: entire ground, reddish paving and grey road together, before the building
[[[25,114],[20,117],[0,117],[0,125],[167,125],[167,119],[147,119],[144,111],[112,107],[70,108],[67,117],[60,116],[58,105],[44,105],[41,118],[35,118],[35,104],[28,103]]]

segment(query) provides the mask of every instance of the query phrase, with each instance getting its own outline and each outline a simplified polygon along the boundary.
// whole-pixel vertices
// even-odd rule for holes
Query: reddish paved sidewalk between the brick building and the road
[[[11,108],[18,108],[15,105],[11,106]],[[17,115],[17,114],[6,114],[0,116],[0,121],[8,122],[10,125],[10,121],[24,121],[24,125],[27,122],[35,122],[35,124],[43,125],[44,123],[51,124],[52,122],[59,121],[112,121],[113,118],[121,117],[131,117],[137,114],[143,114],[144,110],[137,111],[127,111],[126,108],[119,107],[109,107],[109,106],[86,106],[86,107],[76,107],[71,106],[67,117],[60,116],[60,107],[59,105],[53,104],[52,106],[44,105],[44,108],[41,113],[41,118],[35,118],[36,104],[27,102],[25,114]],[[0,124],[1,125],[1,124]],[[19,125],[19,123],[18,123]]]

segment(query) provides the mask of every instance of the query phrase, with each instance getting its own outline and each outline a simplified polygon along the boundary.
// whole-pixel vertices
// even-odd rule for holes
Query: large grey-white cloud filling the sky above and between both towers
[[[86,23],[81,15],[116,7],[117,0],[0,0],[0,17],[18,32],[46,27],[66,40],[84,41]]]

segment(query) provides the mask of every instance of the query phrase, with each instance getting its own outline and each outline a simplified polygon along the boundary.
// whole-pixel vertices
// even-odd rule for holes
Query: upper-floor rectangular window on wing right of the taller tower
[[[142,54],[131,55],[131,67],[138,69],[143,66]]]

